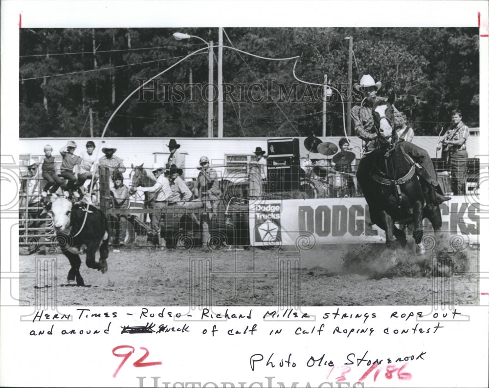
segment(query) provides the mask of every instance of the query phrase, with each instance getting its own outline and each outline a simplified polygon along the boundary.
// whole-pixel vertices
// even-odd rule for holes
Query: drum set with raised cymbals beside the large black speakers
[[[309,198],[353,196],[348,183],[349,180],[352,181],[355,174],[339,170],[351,170],[349,166],[355,160],[355,153],[350,151],[338,152],[338,147],[335,144],[323,142],[313,135],[304,140],[304,147],[308,151],[308,155],[302,165],[306,172],[306,179],[301,183],[301,187],[307,196]],[[326,158],[310,159],[310,153],[320,153]]]

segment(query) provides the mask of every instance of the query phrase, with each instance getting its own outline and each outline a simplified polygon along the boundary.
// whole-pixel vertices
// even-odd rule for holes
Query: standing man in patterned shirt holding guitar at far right
[[[443,151],[446,152],[453,195],[465,194],[468,159],[466,143],[468,136],[469,130],[462,122],[462,112],[458,109],[453,110],[452,126],[446,131],[436,147],[437,150],[443,147]]]

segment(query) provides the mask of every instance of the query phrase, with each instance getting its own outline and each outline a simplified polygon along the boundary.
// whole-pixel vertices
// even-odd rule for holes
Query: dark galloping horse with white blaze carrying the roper
[[[426,183],[418,178],[416,161],[408,154],[407,144],[398,140],[393,129],[395,94],[387,101],[377,101],[372,108],[374,127],[378,134],[378,148],[374,156],[371,184],[374,193],[372,204],[378,210],[378,226],[385,230],[386,244],[395,248],[405,246],[406,236],[394,222],[413,224],[413,237],[418,252],[423,252],[422,220],[428,218],[435,231],[442,226],[438,202],[427,192]],[[370,205],[370,204],[369,204]]]

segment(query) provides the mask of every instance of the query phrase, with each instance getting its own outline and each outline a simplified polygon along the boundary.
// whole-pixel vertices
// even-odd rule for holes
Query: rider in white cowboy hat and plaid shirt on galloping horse
[[[359,84],[355,84],[353,87],[357,92],[360,92],[364,97],[360,105],[352,108],[350,115],[352,117],[353,126],[356,135],[366,142],[364,151],[374,151],[377,147],[376,139],[377,132],[374,126],[374,119],[372,116],[372,107],[375,102],[379,100],[386,100],[385,98],[378,97],[377,91],[382,86],[380,81],[375,82],[374,78],[369,75],[363,75],[360,79]],[[399,111],[394,108],[394,112],[399,113]],[[438,179],[436,176],[433,163],[428,155],[428,153],[421,147],[415,146],[412,143],[403,141],[401,145],[404,151],[411,156],[414,156],[419,163],[422,165],[422,172],[418,172],[420,177],[424,179],[432,187],[436,200],[442,203],[449,199],[443,194],[443,191],[438,184]],[[358,163],[358,168],[356,171],[356,179],[358,185],[362,189],[365,200],[369,204],[370,218],[372,223],[378,223],[378,210],[374,209],[371,205],[373,204],[372,198],[377,193],[373,193],[370,184],[370,173],[374,165],[375,153],[370,152],[364,154]],[[421,170],[421,169],[420,169]],[[418,171],[418,169],[417,169]],[[426,193],[425,193],[426,194]]]

